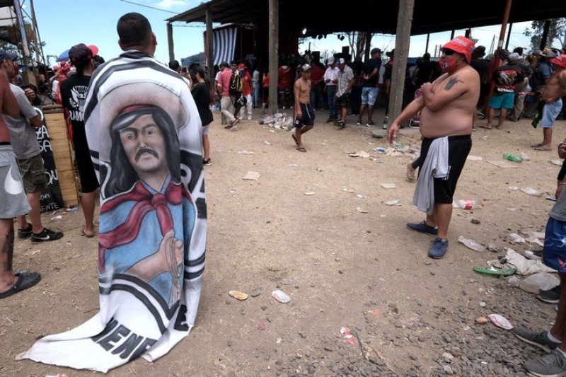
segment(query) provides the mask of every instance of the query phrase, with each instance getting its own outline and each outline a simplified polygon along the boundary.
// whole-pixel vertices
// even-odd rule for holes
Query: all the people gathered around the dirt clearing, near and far
[[[221,62],[208,72],[199,64],[183,71],[172,61],[167,69],[154,58],[156,36],[144,16],[125,14],[117,33],[120,57],[104,62],[96,46],[79,43],[69,50],[69,62],[57,67],[53,83],[42,83],[62,105],[69,123],[81,182],[83,236],[97,233],[93,217],[99,195],[100,312],[74,330],[38,340],[18,355],[20,359],[106,372],[137,356],[156,359],[188,334],[204,274],[204,166],[212,164],[211,107],[219,103],[226,129],[235,129],[246,113],[252,120],[254,109],[261,108],[262,114],[267,110],[270,78],[261,62]],[[395,50],[386,52],[386,64],[381,54],[374,48],[365,62],[351,62],[347,54],[330,56],[325,64],[310,53],[281,59],[273,84],[280,108],[293,112],[291,138],[297,151],[307,151],[304,135],[315,126],[317,109],[328,109],[326,122],[338,129],[346,127],[349,113],[357,116],[357,125],[364,124],[365,115],[365,125],[375,126],[380,94],[387,108]],[[543,128],[543,142],[533,148],[551,151],[553,123],[563,114],[564,52],[548,49],[524,56],[516,49],[501,50],[500,59],[484,57],[485,47],[463,36],[441,47],[438,62],[423,54],[407,71],[404,85],[409,95],[403,110],[391,124],[384,124],[394,144],[406,122],[420,119],[420,156],[408,166],[408,178],[417,178],[412,204],[425,219],[406,226],[434,236],[428,250],[434,259],[449,250],[454,192],[472,149],[478,115],[487,115],[486,129],[502,129],[505,120],[516,121],[531,112],[533,127]],[[5,114],[0,118],[0,180],[5,182],[0,188],[0,298],[41,279],[37,272],[13,271],[13,219],[18,239],[30,237],[39,243],[63,237],[41,224],[37,193],[46,182],[33,131],[41,121],[31,105],[37,93],[12,83],[14,59],[15,54],[0,50]],[[494,92],[487,102],[490,85]],[[499,120],[493,127],[496,112]],[[566,157],[566,141],[558,147],[558,156]],[[558,271],[561,287],[566,284],[564,185],[566,162],[558,174],[557,202],[549,214],[543,249],[543,262]],[[566,289],[549,331],[514,331],[521,340],[550,352],[524,363],[536,376],[566,374],[562,292]],[[126,330],[144,343],[129,347],[122,337]],[[115,331],[121,335],[112,337]]]

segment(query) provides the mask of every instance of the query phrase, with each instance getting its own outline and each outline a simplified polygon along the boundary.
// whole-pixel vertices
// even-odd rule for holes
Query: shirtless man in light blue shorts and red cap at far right
[[[553,64],[553,75],[546,81],[541,95],[545,102],[540,118],[543,142],[532,146],[536,151],[553,150],[553,123],[562,110],[562,97],[566,95],[566,54],[558,55],[550,63]]]

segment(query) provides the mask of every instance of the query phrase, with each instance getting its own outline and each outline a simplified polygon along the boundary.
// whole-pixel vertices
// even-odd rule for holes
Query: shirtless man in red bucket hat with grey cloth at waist
[[[473,41],[466,37],[446,43],[439,61],[445,73],[421,86],[422,95],[393,120],[387,132],[392,143],[400,124],[421,111],[422,162],[412,202],[427,212],[427,219],[407,227],[436,236],[428,253],[433,258],[444,257],[448,250],[454,190],[472,148],[473,113],[480,96],[480,76],[469,65],[473,50]]]

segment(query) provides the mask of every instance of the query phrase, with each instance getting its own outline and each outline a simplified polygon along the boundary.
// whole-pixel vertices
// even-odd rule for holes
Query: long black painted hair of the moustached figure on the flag
[[[154,105],[134,105],[135,110],[122,112],[112,120],[110,124],[110,137],[112,138],[112,149],[110,149],[110,161],[112,161],[112,171],[105,187],[105,197],[126,192],[139,180],[132,165],[129,163],[128,156],[122,146],[120,131],[135,122],[141,115],[151,115],[155,124],[161,129],[166,145],[166,155],[160,158],[167,159],[167,166],[171,174],[171,180],[175,183],[180,182],[179,166],[179,140],[175,132],[173,120],[162,108]]]

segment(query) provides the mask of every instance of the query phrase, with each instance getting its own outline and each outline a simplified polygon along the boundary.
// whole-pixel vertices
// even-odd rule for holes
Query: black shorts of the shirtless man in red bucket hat
[[[422,139],[420,155],[420,166],[429,152],[430,144],[434,139]],[[449,136],[448,137],[448,166],[449,172],[446,178],[434,178],[434,203],[452,204],[456,183],[460,178],[460,173],[466,163],[468,153],[472,149],[471,135]],[[419,169],[420,173],[420,169]]]

